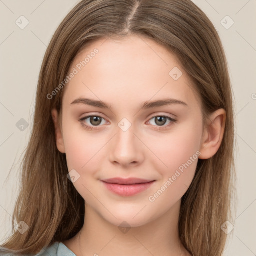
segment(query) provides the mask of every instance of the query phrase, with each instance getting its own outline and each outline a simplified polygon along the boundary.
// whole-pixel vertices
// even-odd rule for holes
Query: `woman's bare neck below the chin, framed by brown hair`
[[[84,225],[71,239],[72,243],[65,244],[77,256],[189,255],[178,235],[180,203],[181,200],[162,216],[136,227],[113,225],[85,203]]]

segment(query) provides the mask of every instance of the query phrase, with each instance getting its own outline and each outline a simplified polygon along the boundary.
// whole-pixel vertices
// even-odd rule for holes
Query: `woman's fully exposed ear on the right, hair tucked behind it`
[[[202,135],[199,159],[208,159],[217,152],[222,142],[225,121],[225,109],[220,108],[211,113]]]

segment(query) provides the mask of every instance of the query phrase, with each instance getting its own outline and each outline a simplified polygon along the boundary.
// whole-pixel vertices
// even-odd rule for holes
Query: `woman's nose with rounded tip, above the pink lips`
[[[109,160],[122,167],[141,164],[144,160],[144,145],[139,135],[134,133],[133,126],[126,131],[117,126],[116,134],[111,140]]]

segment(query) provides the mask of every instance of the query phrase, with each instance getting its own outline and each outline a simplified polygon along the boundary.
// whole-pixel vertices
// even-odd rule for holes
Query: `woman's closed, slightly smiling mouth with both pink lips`
[[[148,189],[155,180],[140,178],[111,178],[101,180],[104,186],[111,192],[120,196],[132,196]]]

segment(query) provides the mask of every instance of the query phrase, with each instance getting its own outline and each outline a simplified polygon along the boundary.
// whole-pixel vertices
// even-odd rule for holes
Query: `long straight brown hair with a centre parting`
[[[81,49],[97,39],[137,34],[176,54],[200,95],[204,120],[224,108],[222,143],[214,156],[199,159],[182,197],[179,235],[194,256],[220,256],[232,222],[235,166],[232,89],[224,50],[207,16],[190,0],[82,0],[64,18],[46,50],[38,80],[33,130],[22,161],[21,191],[12,218],[10,252],[38,253],[72,238],[82,227],[84,199],[67,178],[66,156],[57,150],[52,108],[61,110],[63,90],[47,95],[66,77]],[[14,221],[29,229],[20,234]]]

